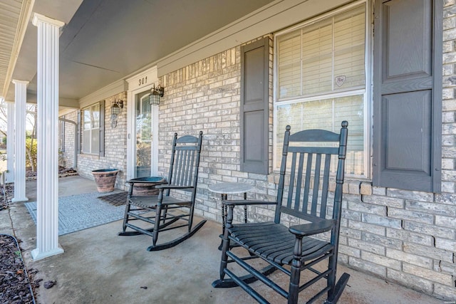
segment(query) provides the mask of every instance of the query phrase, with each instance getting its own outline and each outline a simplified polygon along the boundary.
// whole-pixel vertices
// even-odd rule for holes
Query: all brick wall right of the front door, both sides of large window
[[[455,14],[454,1],[446,1],[442,194],[346,179],[339,255],[351,268],[447,300],[456,299]],[[160,172],[167,171],[174,132],[204,132],[195,212],[222,221],[219,196],[208,190],[217,182],[246,182],[255,187],[249,198],[274,199],[277,173],[239,171],[240,46],[164,75],[160,83],[165,87],[159,118]],[[249,207],[251,221],[273,216],[271,209]],[[237,220],[241,219],[239,210]]]

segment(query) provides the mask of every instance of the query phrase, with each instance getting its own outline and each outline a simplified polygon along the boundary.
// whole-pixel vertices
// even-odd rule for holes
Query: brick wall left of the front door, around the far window
[[[111,126],[111,106],[114,99],[123,100],[123,109],[117,119],[117,127]],[[94,102],[96,103],[96,102]],[[68,120],[77,121],[77,111],[66,115]],[[73,163],[74,127],[65,125],[65,154],[67,163]],[[82,140],[82,138],[81,138]],[[120,169],[115,181],[115,188],[124,189],[127,170],[127,93],[118,93],[105,99],[105,156],[78,152],[78,173],[82,177],[93,180],[92,170],[116,168]]]

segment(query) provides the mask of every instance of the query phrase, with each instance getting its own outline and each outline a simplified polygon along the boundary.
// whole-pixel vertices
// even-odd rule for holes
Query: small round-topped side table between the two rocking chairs
[[[228,194],[244,194],[244,199],[247,199],[247,192],[252,190],[252,185],[240,182],[222,182],[219,184],[209,185],[209,191],[218,193],[222,197],[222,201],[227,199]],[[222,234],[225,233],[225,223],[227,221],[227,206],[222,204]],[[244,205],[244,222],[247,223],[247,205]],[[219,246],[219,249],[222,248]]]

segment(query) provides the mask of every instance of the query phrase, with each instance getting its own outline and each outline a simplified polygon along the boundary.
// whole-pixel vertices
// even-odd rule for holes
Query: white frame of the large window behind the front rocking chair
[[[316,23],[323,19],[331,18],[337,14],[341,14],[344,11],[348,11],[353,9],[356,6],[364,5],[366,7],[366,16],[365,16],[365,54],[364,54],[364,70],[365,70],[365,87],[362,89],[353,88],[353,90],[343,90],[335,93],[325,93],[325,94],[312,94],[312,95],[305,95],[304,97],[298,96],[293,98],[284,98],[281,101],[279,99],[279,64],[278,64],[278,56],[279,50],[277,48],[278,37],[291,33],[293,31],[299,30],[300,28],[304,28],[306,26],[311,25],[312,23]],[[289,28],[284,29],[283,31],[279,31],[274,34],[274,77],[273,77],[273,164],[272,169],[274,172],[279,171],[279,167],[277,166],[277,159],[280,155],[277,154],[277,138],[278,135],[280,136],[284,130],[277,130],[277,107],[279,105],[289,105],[294,103],[301,103],[311,100],[326,100],[331,98],[341,98],[346,96],[352,95],[359,95],[360,92],[364,94],[363,98],[363,125],[364,125],[364,138],[363,138],[363,145],[364,145],[364,159],[363,159],[363,166],[364,166],[364,174],[363,175],[354,175],[354,174],[346,174],[347,177],[352,177],[356,179],[372,179],[372,127],[373,127],[373,118],[372,118],[372,96],[373,96],[373,5],[371,1],[368,0],[358,0],[351,4],[347,4],[346,6],[342,6],[337,9],[333,9],[328,11],[325,14],[321,14],[316,16],[312,19],[303,21],[295,26],[291,26]],[[334,127],[337,127],[335,125]],[[348,122],[348,130],[350,130],[350,122]],[[293,132],[293,131],[292,131]],[[338,132],[338,130],[335,130]],[[350,133],[350,131],[348,131]]]

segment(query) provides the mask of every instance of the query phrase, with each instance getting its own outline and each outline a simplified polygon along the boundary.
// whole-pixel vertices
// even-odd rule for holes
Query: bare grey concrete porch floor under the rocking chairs
[[[29,201],[36,201],[36,182],[27,182]],[[59,179],[59,196],[96,192],[95,182],[82,177]],[[117,236],[115,221],[59,237],[65,251],[33,261],[36,226],[23,203],[0,211],[0,234],[22,241],[27,268],[37,269],[38,304],[48,303],[256,303],[241,288],[216,289],[221,224],[207,221],[187,241],[164,251],[148,252],[148,236]],[[415,290],[387,283],[365,273],[338,267],[351,275],[339,303],[444,303]],[[45,281],[56,281],[46,289]],[[260,290],[269,288],[254,283]],[[284,303],[273,292],[272,303]],[[268,297],[266,295],[266,298]],[[323,300],[321,300],[321,303]],[[318,303],[318,301],[317,301]]]

